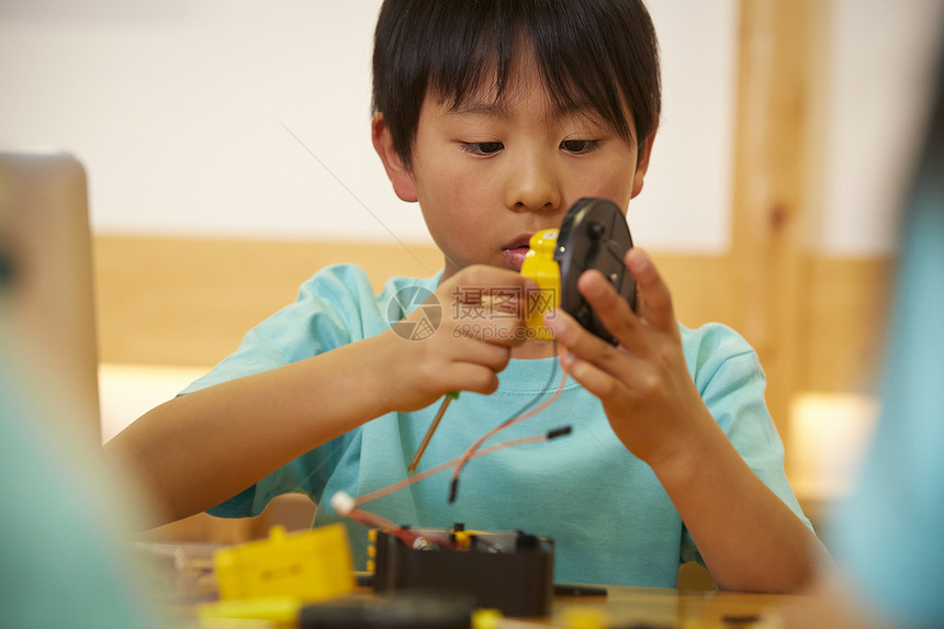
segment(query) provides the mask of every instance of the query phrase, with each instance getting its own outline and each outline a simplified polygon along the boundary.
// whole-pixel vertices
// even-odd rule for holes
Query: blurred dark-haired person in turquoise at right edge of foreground
[[[908,199],[884,407],[831,548],[856,606],[894,627],[944,626],[944,64]]]

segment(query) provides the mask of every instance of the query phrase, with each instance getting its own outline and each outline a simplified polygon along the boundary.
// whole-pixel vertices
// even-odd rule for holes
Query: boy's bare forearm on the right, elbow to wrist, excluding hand
[[[797,592],[825,555],[816,535],[708,419],[655,474],[719,587]]]

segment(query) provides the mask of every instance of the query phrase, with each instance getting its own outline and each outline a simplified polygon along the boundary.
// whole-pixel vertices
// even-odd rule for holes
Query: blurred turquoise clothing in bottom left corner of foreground
[[[2,297],[0,297],[2,301]],[[0,305],[2,310],[2,305]],[[2,315],[0,315],[2,319]],[[2,322],[0,322],[2,326]],[[132,565],[130,508],[68,420],[32,389],[0,332],[0,618],[4,627],[161,627]],[[64,402],[61,397],[57,402]],[[112,502],[117,501],[117,502]]]

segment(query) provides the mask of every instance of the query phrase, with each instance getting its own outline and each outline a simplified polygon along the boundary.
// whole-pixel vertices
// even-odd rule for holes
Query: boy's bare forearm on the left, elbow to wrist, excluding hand
[[[386,411],[380,337],[176,397],[105,445],[160,521],[210,508]],[[160,524],[160,523],[154,523]]]

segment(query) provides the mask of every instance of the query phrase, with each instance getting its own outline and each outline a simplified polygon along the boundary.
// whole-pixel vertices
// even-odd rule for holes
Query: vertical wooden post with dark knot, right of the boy
[[[767,405],[787,431],[808,336],[802,265],[809,213],[810,110],[821,5],[742,0],[738,58],[732,282],[735,326],[768,373]]]

